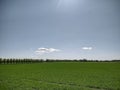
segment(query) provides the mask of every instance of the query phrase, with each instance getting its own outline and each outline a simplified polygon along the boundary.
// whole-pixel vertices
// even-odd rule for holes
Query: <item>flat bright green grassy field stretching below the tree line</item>
[[[3,64],[0,90],[120,90],[120,63]]]

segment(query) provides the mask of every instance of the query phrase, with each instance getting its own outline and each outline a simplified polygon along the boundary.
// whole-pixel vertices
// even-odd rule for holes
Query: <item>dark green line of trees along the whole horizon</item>
[[[67,60],[67,59],[12,59],[12,58],[0,58],[0,64],[24,64],[24,63],[41,63],[41,62],[120,62],[120,60]]]

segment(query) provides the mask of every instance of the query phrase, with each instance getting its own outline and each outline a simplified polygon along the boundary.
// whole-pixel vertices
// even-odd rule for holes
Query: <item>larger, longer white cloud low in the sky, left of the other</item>
[[[44,53],[52,53],[52,52],[58,52],[58,51],[60,50],[55,48],[38,48],[35,52],[37,54],[44,54]]]

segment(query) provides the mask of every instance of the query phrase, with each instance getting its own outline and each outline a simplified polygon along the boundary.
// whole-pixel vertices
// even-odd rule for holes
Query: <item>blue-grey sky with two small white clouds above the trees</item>
[[[0,57],[120,59],[120,0],[0,0]]]

